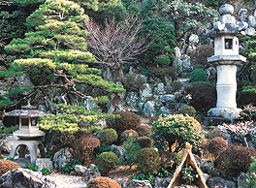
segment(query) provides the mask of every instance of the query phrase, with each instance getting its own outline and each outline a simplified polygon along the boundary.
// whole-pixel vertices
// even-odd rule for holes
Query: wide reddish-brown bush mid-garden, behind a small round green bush
[[[114,119],[107,119],[107,127],[116,131],[118,136],[129,129],[135,129],[141,124],[141,118],[130,111],[117,111],[113,114],[120,115]]]

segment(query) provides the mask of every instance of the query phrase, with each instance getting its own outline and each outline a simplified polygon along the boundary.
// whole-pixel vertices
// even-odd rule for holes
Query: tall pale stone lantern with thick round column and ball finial
[[[208,57],[208,63],[216,66],[217,70],[217,104],[216,108],[208,110],[208,116],[236,119],[240,116],[237,108],[237,67],[246,61],[239,54],[239,38],[245,35],[247,23],[236,21],[232,16],[234,7],[222,5],[219,8],[221,15],[213,23],[207,36],[214,39],[214,55]]]

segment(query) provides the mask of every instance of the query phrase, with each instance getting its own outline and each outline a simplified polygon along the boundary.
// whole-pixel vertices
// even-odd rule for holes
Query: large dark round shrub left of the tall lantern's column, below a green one
[[[185,86],[185,96],[191,94],[190,104],[200,111],[208,111],[215,107],[217,92],[216,87],[204,81],[196,81]]]

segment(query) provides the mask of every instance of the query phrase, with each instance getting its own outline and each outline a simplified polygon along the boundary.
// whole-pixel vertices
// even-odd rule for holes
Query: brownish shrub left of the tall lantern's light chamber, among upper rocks
[[[208,57],[214,54],[214,48],[209,45],[202,45],[201,47],[197,47],[196,50],[193,50],[189,54],[192,65],[204,65],[208,66]]]

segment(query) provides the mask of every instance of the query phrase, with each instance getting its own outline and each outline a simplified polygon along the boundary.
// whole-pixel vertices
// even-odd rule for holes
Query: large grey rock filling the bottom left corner
[[[33,172],[28,169],[18,168],[11,172],[6,172],[0,177],[1,188],[53,188],[55,182],[43,176],[42,173]]]

